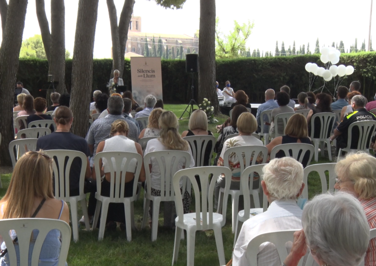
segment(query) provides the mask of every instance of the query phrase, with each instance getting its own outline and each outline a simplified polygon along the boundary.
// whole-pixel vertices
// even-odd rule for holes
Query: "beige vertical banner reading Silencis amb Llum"
[[[163,99],[160,57],[131,57],[130,71],[132,95],[141,107],[144,106],[144,99],[149,94]]]

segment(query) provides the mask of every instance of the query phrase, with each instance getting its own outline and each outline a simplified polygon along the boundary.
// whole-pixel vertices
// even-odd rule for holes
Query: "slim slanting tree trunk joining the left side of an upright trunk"
[[[51,1],[51,2],[54,2],[54,1]],[[43,46],[45,47],[47,60],[50,63],[51,62],[50,61],[51,59],[51,51],[50,51],[51,33],[50,33],[50,27],[49,27],[47,16],[46,16],[45,0],[36,0],[35,6],[37,9],[37,18],[38,18],[39,28],[41,29]],[[52,11],[52,6],[51,6],[51,11]]]

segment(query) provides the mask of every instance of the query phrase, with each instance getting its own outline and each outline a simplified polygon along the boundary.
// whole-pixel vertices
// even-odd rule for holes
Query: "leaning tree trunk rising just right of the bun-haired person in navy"
[[[89,124],[89,104],[93,83],[93,51],[99,0],[80,0],[72,62],[70,108],[73,134],[85,137]]]

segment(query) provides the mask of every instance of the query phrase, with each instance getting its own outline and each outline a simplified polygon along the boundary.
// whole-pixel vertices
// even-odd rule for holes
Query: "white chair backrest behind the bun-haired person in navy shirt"
[[[48,150],[43,151],[44,154],[53,158],[52,168],[54,170],[55,179],[55,198],[69,201],[69,178],[73,160],[79,158],[81,160],[80,172],[80,195],[84,194],[85,172],[87,166],[87,157],[84,153],[72,150]]]

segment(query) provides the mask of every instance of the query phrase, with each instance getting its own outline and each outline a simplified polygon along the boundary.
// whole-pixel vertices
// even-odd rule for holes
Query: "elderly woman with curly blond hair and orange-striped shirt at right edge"
[[[349,154],[335,165],[334,188],[355,196],[363,206],[370,229],[376,228],[376,158],[366,153]],[[376,238],[369,241],[364,265],[376,265]]]

